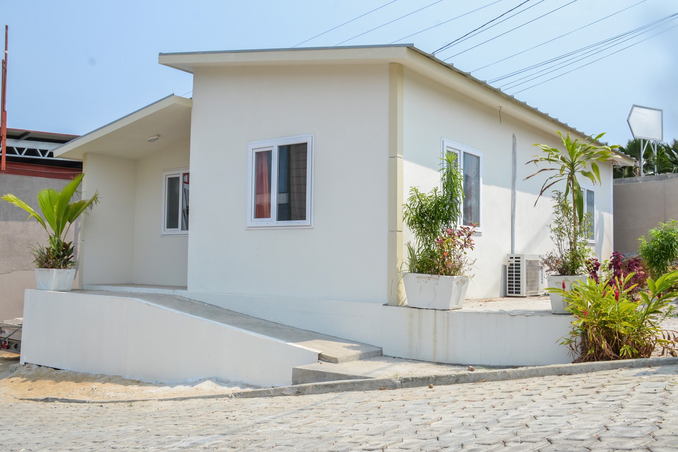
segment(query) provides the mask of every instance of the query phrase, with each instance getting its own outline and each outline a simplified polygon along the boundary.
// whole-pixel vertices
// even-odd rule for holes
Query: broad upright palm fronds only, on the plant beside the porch
[[[35,218],[45,228],[47,234],[49,234],[50,242],[54,239],[62,240],[68,233],[68,229],[71,228],[71,224],[87,209],[91,209],[99,202],[99,192],[95,192],[94,196],[90,199],[71,201],[84,176],[84,173],[75,176],[61,191],[54,190],[54,188],[40,190],[37,194],[37,199],[42,215],[14,194],[5,194],[0,199],[4,199],[28,212],[26,220]],[[47,226],[52,229],[52,232],[49,231]]]

